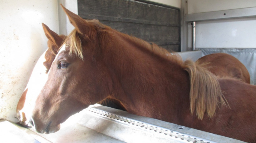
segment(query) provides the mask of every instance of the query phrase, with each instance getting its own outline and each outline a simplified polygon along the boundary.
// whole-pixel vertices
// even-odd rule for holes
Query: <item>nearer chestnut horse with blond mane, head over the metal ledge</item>
[[[72,114],[113,98],[132,114],[256,141],[254,85],[217,78],[193,61],[63,9],[75,29],[33,104],[37,132],[57,132]]]

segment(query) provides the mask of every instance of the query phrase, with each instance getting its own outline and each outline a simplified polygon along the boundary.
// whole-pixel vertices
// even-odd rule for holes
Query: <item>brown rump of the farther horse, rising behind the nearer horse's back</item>
[[[199,58],[196,63],[209,67],[209,71],[219,77],[236,78],[250,84],[250,74],[244,64],[229,54],[209,54]]]

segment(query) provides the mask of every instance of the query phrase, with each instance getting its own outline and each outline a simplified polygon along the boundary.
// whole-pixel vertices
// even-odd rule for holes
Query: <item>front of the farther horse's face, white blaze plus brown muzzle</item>
[[[32,109],[35,106],[37,96],[47,81],[46,67],[43,65],[43,62],[45,61],[45,52],[38,59],[27,83],[27,87],[17,104],[17,117],[19,118],[20,124],[24,126],[31,126],[29,117],[32,115]]]

